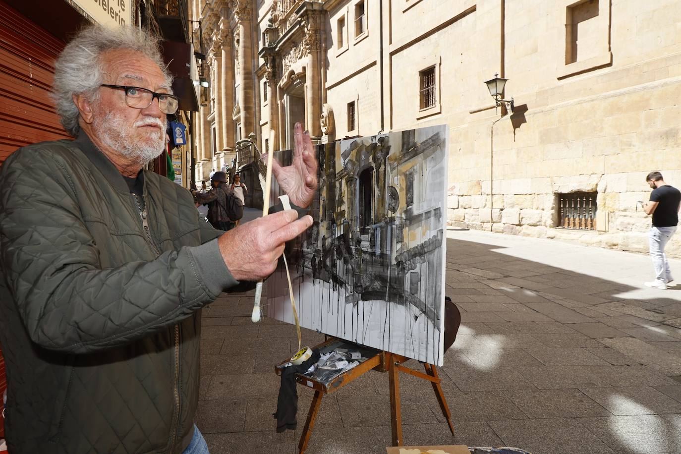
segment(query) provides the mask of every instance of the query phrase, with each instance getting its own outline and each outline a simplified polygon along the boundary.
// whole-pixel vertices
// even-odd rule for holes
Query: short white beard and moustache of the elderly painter
[[[161,129],[151,133],[148,140],[136,141],[132,137],[133,128],[143,125],[158,125]],[[93,121],[93,129],[99,140],[112,150],[116,150],[142,166],[147,165],[165,150],[165,126],[165,118],[159,120],[159,118],[149,117],[138,120],[132,127],[129,127],[125,124],[123,117],[114,112],[96,116]]]

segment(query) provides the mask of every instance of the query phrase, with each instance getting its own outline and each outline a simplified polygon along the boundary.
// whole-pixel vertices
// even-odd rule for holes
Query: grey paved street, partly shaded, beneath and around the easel
[[[449,231],[447,295],[462,312],[439,369],[456,436],[432,388],[400,376],[405,444],[514,446],[533,454],[681,453],[681,282],[652,280],[644,255],[478,231]],[[671,261],[681,278],[681,261]],[[203,312],[197,425],[210,452],[295,453],[276,434],[273,366],[295,328],[251,323],[251,294]],[[304,330],[303,344],[323,336]],[[415,361],[411,361],[415,362]],[[411,366],[418,366],[411,364]],[[299,387],[299,427],[312,392]],[[307,453],[385,453],[387,374],[369,372],[321,404]]]

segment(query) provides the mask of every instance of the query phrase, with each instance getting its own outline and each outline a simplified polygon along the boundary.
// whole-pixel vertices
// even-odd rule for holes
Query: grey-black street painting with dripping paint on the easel
[[[315,222],[285,250],[301,327],[442,365],[447,139],[441,126],[317,146]],[[267,312],[294,323],[281,260]]]

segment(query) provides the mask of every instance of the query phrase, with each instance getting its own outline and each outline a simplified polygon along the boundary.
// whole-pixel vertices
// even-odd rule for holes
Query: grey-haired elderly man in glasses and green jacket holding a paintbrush
[[[76,140],[21,148],[0,174],[9,450],[207,452],[193,423],[199,310],[268,276],[312,218],[282,211],[225,233],[199,221],[188,191],[142,169],[178,107],[155,38],[85,29],[56,68]],[[296,137],[294,165],[274,172],[304,207],[317,161],[300,125]]]

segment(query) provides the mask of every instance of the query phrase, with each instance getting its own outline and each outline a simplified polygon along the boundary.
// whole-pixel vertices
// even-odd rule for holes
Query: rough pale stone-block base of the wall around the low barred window
[[[665,179],[681,181],[681,171],[665,172]],[[447,199],[447,223],[454,227],[466,227],[511,235],[535,238],[556,238],[599,246],[648,252],[648,229],[650,216],[637,207],[637,201],[647,200],[649,190],[642,191],[646,172],[601,174],[516,180],[518,191],[495,194],[494,204],[490,196],[482,193],[484,182],[479,180],[453,184]],[[525,193],[522,186],[531,188],[545,185],[550,189],[543,193]],[[558,225],[558,193],[596,191],[599,222],[597,231],[579,231],[556,228]],[[667,255],[681,257],[681,236],[674,236],[667,246]]]

